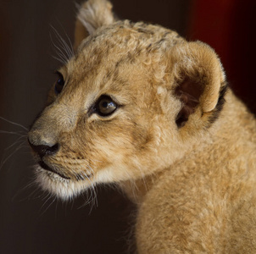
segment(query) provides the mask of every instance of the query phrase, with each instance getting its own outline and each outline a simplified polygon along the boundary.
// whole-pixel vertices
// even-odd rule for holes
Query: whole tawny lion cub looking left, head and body
[[[38,183],[63,199],[120,185],[138,253],[256,253],[256,121],[220,59],[111,9],[78,14],[75,55],[28,135]]]

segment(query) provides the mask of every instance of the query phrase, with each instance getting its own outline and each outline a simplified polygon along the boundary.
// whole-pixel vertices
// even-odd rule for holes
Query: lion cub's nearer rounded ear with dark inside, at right
[[[174,93],[181,101],[179,128],[209,127],[225,102],[225,73],[214,50],[200,41],[176,45],[170,51]]]

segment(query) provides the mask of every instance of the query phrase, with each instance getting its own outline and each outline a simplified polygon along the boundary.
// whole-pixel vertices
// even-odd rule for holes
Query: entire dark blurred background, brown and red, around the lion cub
[[[157,23],[209,43],[237,96],[256,112],[255,1],[112,3],[120,19]],[[113,188],[97,188],[92,207],[86,195],[57,202],[32,184],[25,129],[56,80],[58,39],[51,26],[73,41],[75,13],[73,0],[0,0],[0,253],[129,253],[134,207]]]

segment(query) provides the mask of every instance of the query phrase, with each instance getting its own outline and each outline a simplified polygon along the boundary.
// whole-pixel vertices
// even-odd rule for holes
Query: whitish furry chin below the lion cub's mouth
[[[71,200],[89,187],[93,188],[89,179],[70,179],[48,169],[36,166],[36,183],[43,191],[49,191],[53,196],[63,200]]]

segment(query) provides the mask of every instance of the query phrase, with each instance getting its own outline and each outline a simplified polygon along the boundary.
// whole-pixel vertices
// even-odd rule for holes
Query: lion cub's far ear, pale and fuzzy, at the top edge
[[[75,22],[74,49],[86,36],[92,35],[97,28],[114,22],[112,4],[107,0],[88,0],[81,4]]]

